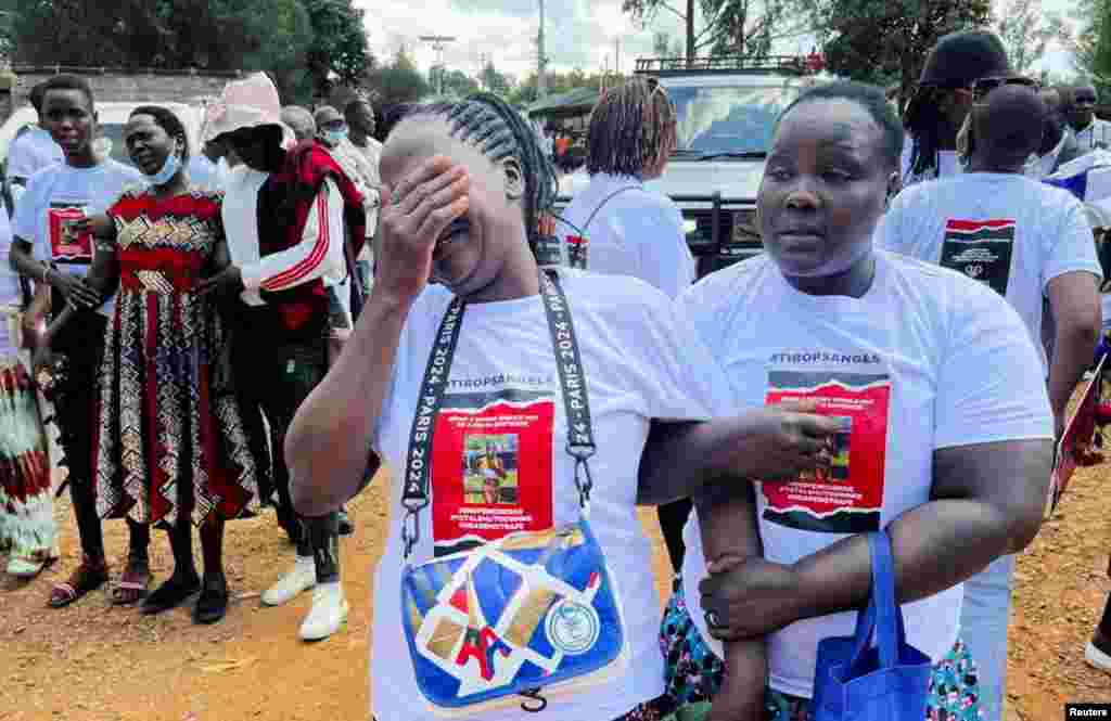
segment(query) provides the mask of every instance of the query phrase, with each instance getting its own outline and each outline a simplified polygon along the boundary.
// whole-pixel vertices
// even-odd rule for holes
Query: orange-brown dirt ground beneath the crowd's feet
[[[1111,464],[1081,469],[1019,560],[1008,721],[1051,721],[1063,718],[1065,701],[1111,700],[1111,677],[1083,661],[1083,644],[1111,589],[1109,479]],[[107,588],[71,608],[48,609],[50,587],[78,555],[69,502],[60,500],[62,560],[30,583],[0,581],[0,719],[367,719],[370,584],[387,522],[383,481],[377,479],[349,508],[357,533],[342,544],[348,625],[316,644],[297,639],[311,594],[283,608],[260,608],[259,592],[292,559],[271,512],[229,525],[228,579],[237,600],[213,627],[193,625],[188,607],[154,618],[113,608]],[[653,571],[662,594],[665,551],[654,513],[642,510],[641,518],[655,542]],[[110,554],[122,557],[123,524],[107,523],[106,535]],[[161,534],[151,544],[151,564],[156,582],[171,569]]]

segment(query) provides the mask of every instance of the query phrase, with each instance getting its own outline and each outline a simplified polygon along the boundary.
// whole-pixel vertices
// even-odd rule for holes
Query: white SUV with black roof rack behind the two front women
[[[682,209],[687,242],[702,276],[762,250],[754,227],[775,119],[820,81],[798,58],[640,59],[637,74],[663,86],[678,112],[678,143],[663,174],[645,187]],[[585,170],[564,178],[565,200],[590,182]]]

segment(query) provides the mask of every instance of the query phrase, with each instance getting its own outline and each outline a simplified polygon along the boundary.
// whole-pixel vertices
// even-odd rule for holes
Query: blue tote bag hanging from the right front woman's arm
[[[902,610],[895,604],[888,534],[869,533],[868,545],[872,598],[857,617],[854,635],[823,639],[818,644],[813,721],[925,719],[930,657],[907,643]]]

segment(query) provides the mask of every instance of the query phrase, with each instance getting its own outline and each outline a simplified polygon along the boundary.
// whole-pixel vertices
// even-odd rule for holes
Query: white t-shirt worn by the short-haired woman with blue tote
[[[764,555],[791,564],[850,534],[887,528],[930,500],[937,449],[1051,439],[1053,422],[1022,321],[980,283],[877,251],[859,299],[808,296],[761,256],[709,276],[679,300],[722,365],[733,413],[812,395],[845,433],[827,477],[757,485]],[[999,479],[1010,482],[1011,479]],[[683,591],[711,648],[698,584],[698,514],[683,532]],[[934,661],[958,637],[963,587],[903,604],[908,641]],[[811,697],[818,642],[852,635],[855,612],[805,619],[768,639],[771,687]]]

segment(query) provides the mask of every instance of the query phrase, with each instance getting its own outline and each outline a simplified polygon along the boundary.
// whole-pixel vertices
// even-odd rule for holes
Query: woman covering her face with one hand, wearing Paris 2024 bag
[[[448,707],[480,721],[541,708],[659,719],[659,597],[635,504],[701,484],[645,489],[641,450],[653,419],[708,419],[728,384],[664,293],[539,268],[554,172],[499,98],[414,108],[387,139],[381,174],[370,301],[286,441],[308,515],[357,492],[369,453],[403,469],[374,583],[376,718],[432,721]],[[701,460],[735,477],[771,471],[742,455],[805,465],[772,440],[794,438],[777,433],[783,419],[808,431],[821,420],[705,423],[721,443]],[[497,499],[468,463],[489,444],[504,449]],[[580,683],[577,659],[604,677]]]

